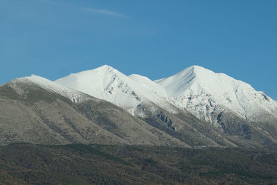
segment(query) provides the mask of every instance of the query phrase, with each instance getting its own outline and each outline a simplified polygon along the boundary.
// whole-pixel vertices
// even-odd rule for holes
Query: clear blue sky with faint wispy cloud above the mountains
[[[277,99],[276,0],[0,0],[0,84],[109,64],[152,80],[193,64]]]

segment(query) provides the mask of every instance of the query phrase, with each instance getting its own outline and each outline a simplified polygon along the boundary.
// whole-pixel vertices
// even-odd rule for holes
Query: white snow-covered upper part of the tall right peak
[[[215,125],[217,116],[213,114],[226,110],[245,120],[255,120],[260,113],[277,116],[277,102],[262,91],[203,67],[188,67],[155,82],[166,89],[170,103]]]

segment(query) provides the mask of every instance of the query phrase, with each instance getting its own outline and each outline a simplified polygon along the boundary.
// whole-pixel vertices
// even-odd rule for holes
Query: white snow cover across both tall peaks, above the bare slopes
[[[214,73],[199,66],[188,67],[174,76],[153,82],[136,74],[125,76],[105,65],[73,73],[55,82],[107,100],[133,115],[138,105],[150,103],[172,113],[183,109],[216,127],[220,126],[218,119],[222,112],[245,121],[257,121],[259,114],[277,117],[276,101],[263,92],[224,73]]]

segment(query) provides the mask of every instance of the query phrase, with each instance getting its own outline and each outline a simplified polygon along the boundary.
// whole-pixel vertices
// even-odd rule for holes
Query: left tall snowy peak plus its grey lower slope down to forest
[[[55,82],[107,100],[190,146],[236,146],[193,114],[172,105],[166,89],[144,76],[125,76],[105,65],[71,74]]]

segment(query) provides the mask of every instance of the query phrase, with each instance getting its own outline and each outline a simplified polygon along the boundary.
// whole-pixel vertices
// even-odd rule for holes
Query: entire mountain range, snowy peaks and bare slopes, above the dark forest
[[[0,143],[277,150],[277,102],[223,73],[193,66],[152,81],[107,65],[0,86]]]

